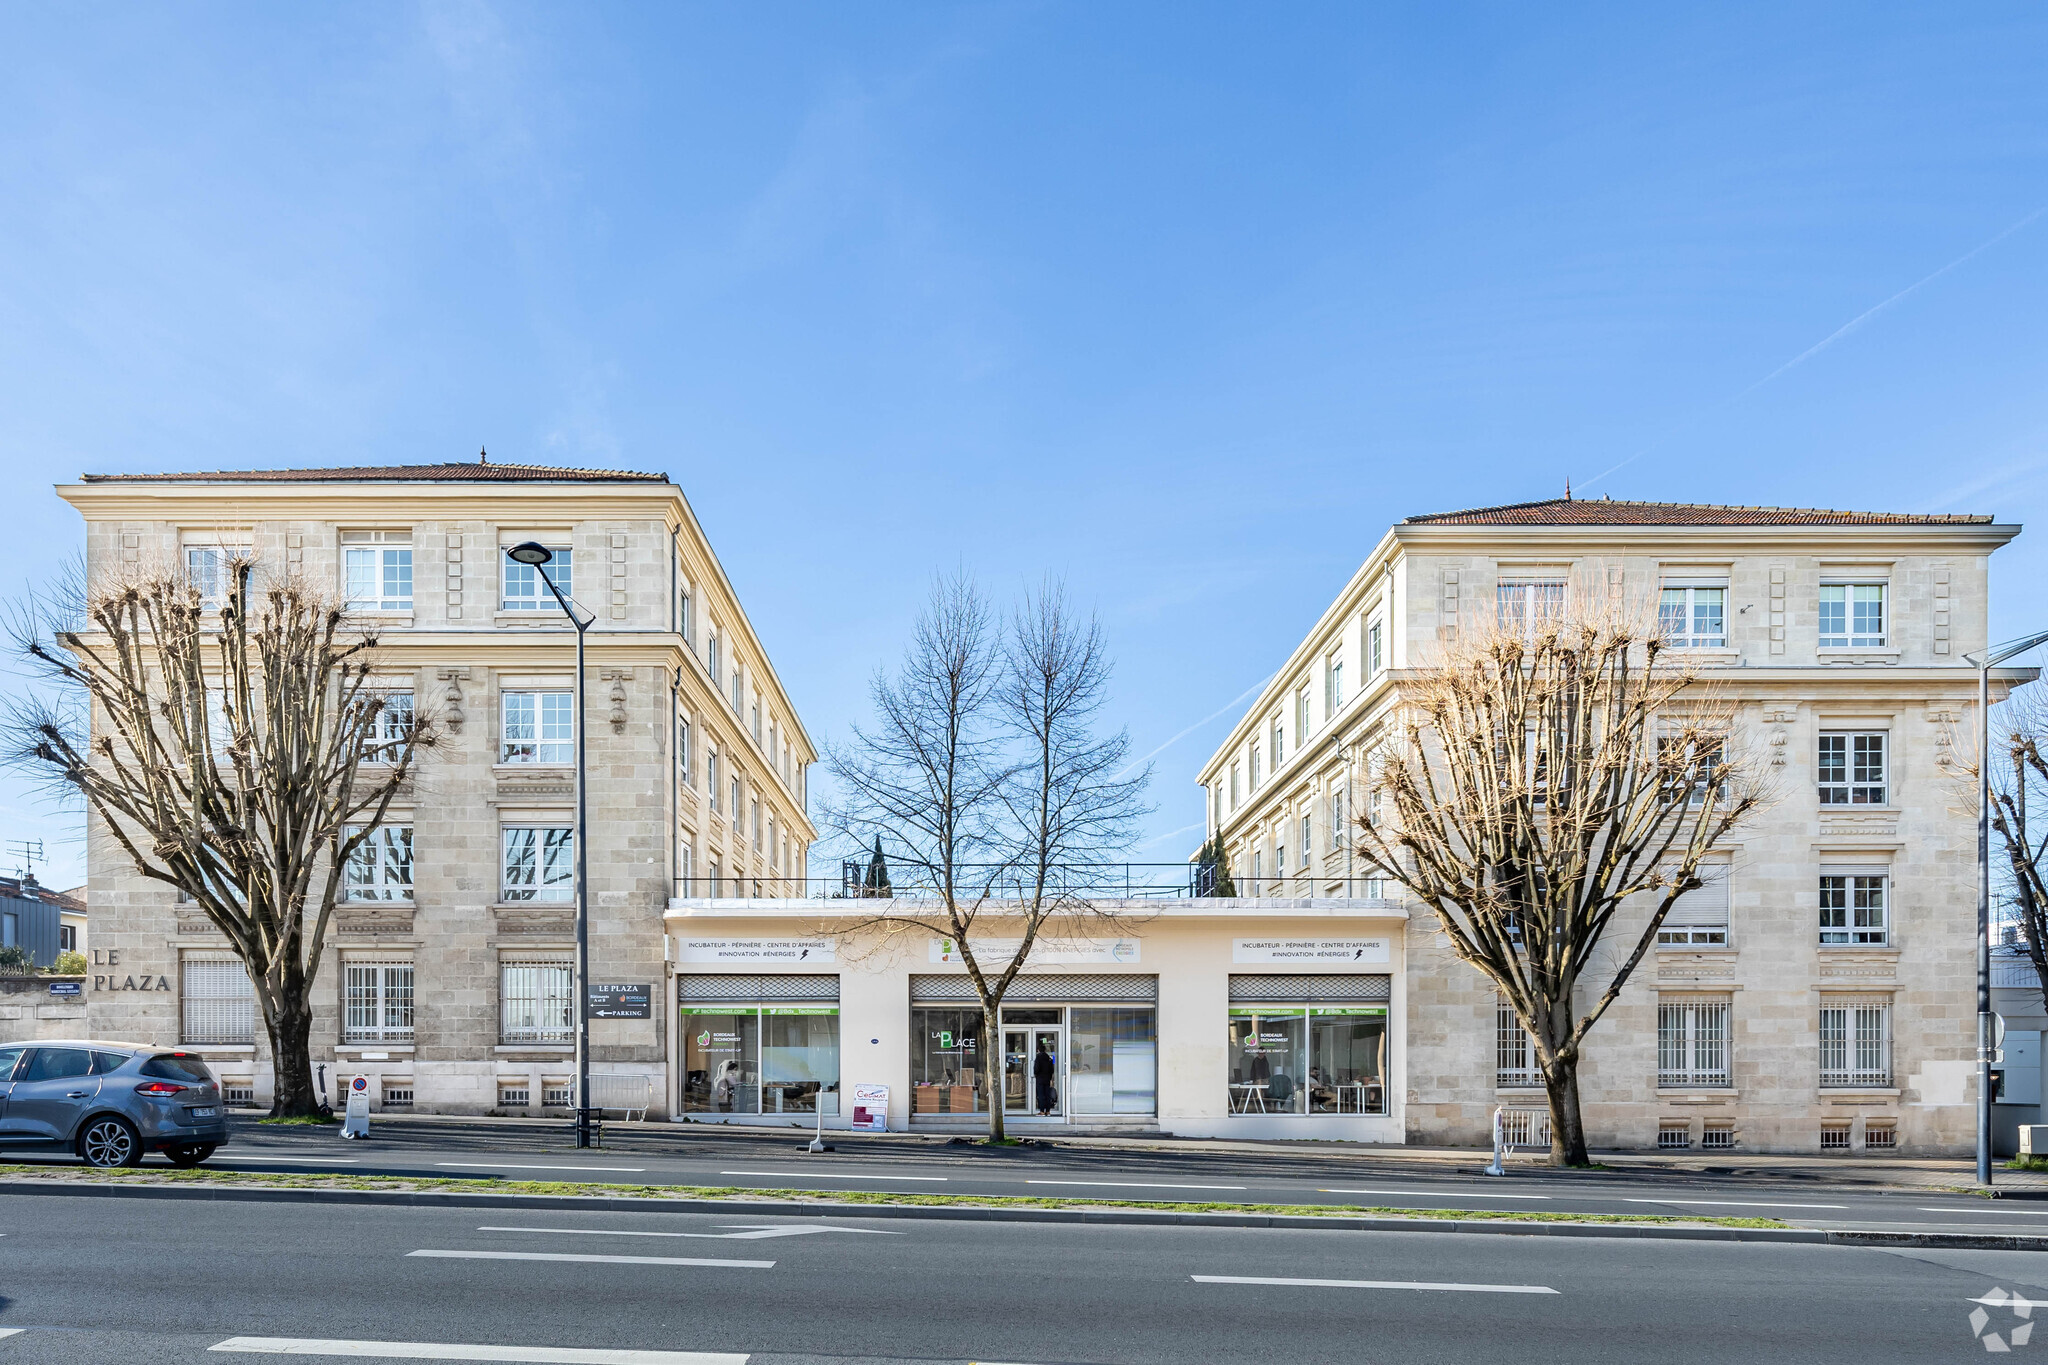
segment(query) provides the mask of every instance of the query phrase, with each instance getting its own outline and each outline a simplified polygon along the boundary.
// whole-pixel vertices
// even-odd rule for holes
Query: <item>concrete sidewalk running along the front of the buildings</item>
[[[262,1142],[289,1140],[295,1130],[289,1126],[260,1126],[256,1111],[238,1113],[238,1138],[258,1138]],[[465,1150],[481,1148],[545,1148],[567,1146],[567,1119],[512,1119],[512,1117],[455,1117],[455,1115],[410,1115],[379,1113],[373,1119],[375,1136],[397,1146],[457,1146]],[[735,1154],[745,1148],[780,1148],[797,1138],[809,1138],[809,1128],[760,1126],[741,1128],[731,1124],[604,1124],[604,1146],[610,1150],[672,1152],[690,1148],[698,1152],[707,1146],[731,1148]],[[942,1152],[963,1154],[971,1140],[954,1134],[848,1134],[827,1132],[827,1138],[842,1152],[864,1152],[872,1156],[918,1158]],[[1360,1173],[1380,1171],[1386,1175],[1475,1175],[1491,1160],[1491,1152],[1481,1148],[1450,1146],[1378,1146],[1360,1142],[1249,1142],[1171,1136],[1044,1136],[1032,1134],[1026,1140],[1032,1148],[1057,1148],[1063,1152],[1094,1152],[1104,1160],[1118,1154],[1130,1158],[1219,1158],[1241,1156],[1262,1162],[1339,1160]],[[987,1152],[987,1148],[969,1148]],[[993,1156],[993,1152],[987,1152]],[[1858,1189],[1978,1189],[1976,1162],[1968,1156],[1878,1156],[1853,1152],[1843,1156],[1819,1154],[1772,1154],[1772,1152],[1657,1152],[1657,1150],[1612,1150],[1593,1152],[1597,1171],[1554,1171],[1544,1164],[1538,1152],[1516,1152],[1509,1171],[1524,1179],[1575,1181],[1587,1177],[1604,1179],[1716,1179],[1753,1181],[1763,1185],[1798,1187],[1858,1187]],[[2005,1171],[2003,1164],[1993,1175],[1995,1191],[2013,1191],[2034,1197],[2048,1197],[2048,1173]]]

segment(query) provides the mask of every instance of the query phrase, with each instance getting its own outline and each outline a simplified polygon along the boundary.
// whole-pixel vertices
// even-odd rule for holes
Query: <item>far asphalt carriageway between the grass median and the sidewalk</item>
[[[616,1130],[614,1130],[616,1134]],[[510,1146],[518,1142],[518,1146]],[[1784,1181],[1657,1175],[1559,1177],[1532,1171],[1417,1175],[1370,1154],[1147,1152],[1114,1148],[915,1146],[836,1138],[838,1152],[807,1156],[799,1136],[614,1136],[575,1150],[565,1130],[475,1130],[387,1124],[362,1142],[322,1128],[242,1121],[207,1162],[223,1171],[338,1171],[508,1181],[721,1185],[745,1189],[862,1189],[946,1195],[1053,1195],[1169,1203],[1356,1203],[1411,1209],[1528,1209],[1546,1214],[1665,1214],[1776,1218],[1798,1228],[2028,1232],[2048,1236],[2048,1201],[1980,1199],[1939,1191],[1788,1185]],[[18,1154],[16,1160],[70,1162]],[[150,1158],[162,1160],[162,1158]],[[1483,1164],[1475,1152],[1473,1171]]]

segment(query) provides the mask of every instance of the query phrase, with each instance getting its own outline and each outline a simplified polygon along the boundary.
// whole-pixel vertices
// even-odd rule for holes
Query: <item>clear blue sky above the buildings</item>
[[[1147,751],[1401,516],[2048,487],[2038,6],[0,23],[0,583],[82,471],[659,469],[815,737],[967,565],[1100,610]],[[1139,857],[1229,720],[1157,753]],[[55,880],[72,825],[0,786]]]

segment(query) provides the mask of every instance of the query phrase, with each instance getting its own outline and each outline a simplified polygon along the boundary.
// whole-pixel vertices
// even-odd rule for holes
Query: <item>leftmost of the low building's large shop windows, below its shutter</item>
[[[686,1005],[682,1052],[684,1113],[840,1111],[838,1009]]]

